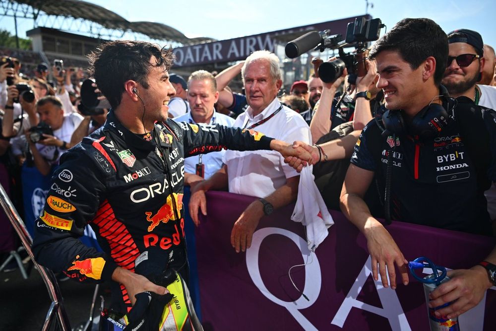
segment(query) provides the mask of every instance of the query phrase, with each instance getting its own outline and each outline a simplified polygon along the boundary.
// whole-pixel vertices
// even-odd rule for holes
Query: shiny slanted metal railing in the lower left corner
[[[40,272],[45,285],[47,286],[48,294],[50,295],[50,299],[52,300],[52,304],[47,312],[47,317],[45,318],[45,323],[43,324],[42,331],[48,331],[53,326],[54,320],[57,319],[59,322],[59,326],[63,331],[70,331],[70,323],[67,317],[67,313],[65,312],[65,308],[63,306],[62,294],[59,288],[59,283],[54,275],[54,273],[44,266],[38,265],[34,260],[33,251],[31,250],[31,244],[33,240],[26,230],[26,226],[22,221],[21,217],[17,213],[12,201],[7,196],[7,193],[0,185],[0,204],[5,211],[10,223],[14,227],[15,231],[19,235],[21,239],[22,245],[26,249],[26,252],[29,254],[29,257],[33,261],[36,269]]]

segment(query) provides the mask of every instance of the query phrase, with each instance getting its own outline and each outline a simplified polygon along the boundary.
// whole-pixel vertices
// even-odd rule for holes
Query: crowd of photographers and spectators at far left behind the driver
[[[100,127],[105,122],[106,110],[98,114],[83,112],[85,115],[79,111],[81,83],[86,77],[82,64],[65,69],[49,67],[34,52],[10,49],[1,52],[2,186],[10,193],[33,234],[33,221],[46,199],[40,193],[48,190],[60,156]],[[3,261],[19,243],[3,213],[0,228]],[[12,263],[15,267],[15,262]]]

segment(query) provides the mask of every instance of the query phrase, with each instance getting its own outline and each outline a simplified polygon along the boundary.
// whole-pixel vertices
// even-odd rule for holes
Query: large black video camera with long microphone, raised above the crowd
[[[367,66],[363,54],[369,42],[379,39],[380,28],[384,26],[379,18],[355,18],[355,22],[348,23],[345,40],[340,34],[330,35],[330,30],[311,31],[289,42],[286,45],[286,56],[294,59],[311,49],[323,52],[326,48],[337,48],[339,57],[318,67],[319,78],[325,83],[333,83],[345,68],[350,75],[365,76]],[[345,47],[355,47],[355,52],[345,53]]]

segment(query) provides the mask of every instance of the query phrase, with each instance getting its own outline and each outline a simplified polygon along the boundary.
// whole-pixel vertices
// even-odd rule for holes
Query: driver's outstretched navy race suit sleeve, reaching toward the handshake
[[[225,127],[222,125],[196,125],[180,122],[183,129],[185,156],[205,154],[221,149],[270,150],[270,141],[261,132]]]

